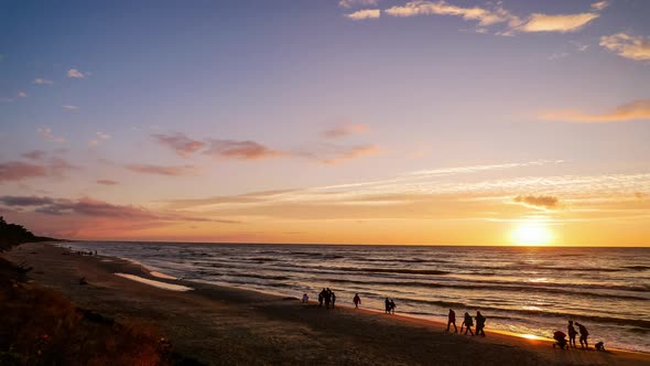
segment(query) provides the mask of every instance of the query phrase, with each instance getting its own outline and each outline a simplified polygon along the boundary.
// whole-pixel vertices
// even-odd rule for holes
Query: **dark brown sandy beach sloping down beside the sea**
[[[36,283],[79,306],[154,327],[177,352],[209,365],[650,365],[648,354],[561,351],[548,341],[492,333],[489,323],[486,337],[470,337],[446,334],[441,323],[351,309],[351,299],[326,310],[314,301],[303,305],[299,293],[282,298],[163,279],[126,260],[78,256],[50,244],[22,245],[2,256],[26,262]],[[88,284],[79,284],[80,278]],[[192,290],[178,291],[183,287]]]

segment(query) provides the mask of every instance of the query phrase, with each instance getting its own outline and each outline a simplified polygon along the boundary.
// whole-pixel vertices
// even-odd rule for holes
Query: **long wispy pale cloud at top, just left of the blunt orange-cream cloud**
[[[517,17],[510,14],[503,8],[498,6],[495,10],[488,10],[480,7],[463,8],[449,4],[445,1],[411,1],[403,6],[396,6],[383,11],[392,17],[415,17],[415,15],[453,15],[461,17],[464,20],[478,21],[481,26],[496,23],[514,23]]]

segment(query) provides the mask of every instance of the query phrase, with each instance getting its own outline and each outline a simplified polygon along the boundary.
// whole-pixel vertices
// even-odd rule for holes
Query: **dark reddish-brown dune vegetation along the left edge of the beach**
[[[0,251],[44,240],[53,239],[0,217]],[[154,330],[120,324],[28,281],[30,269],[0,258],[0,365],[199,365]]]

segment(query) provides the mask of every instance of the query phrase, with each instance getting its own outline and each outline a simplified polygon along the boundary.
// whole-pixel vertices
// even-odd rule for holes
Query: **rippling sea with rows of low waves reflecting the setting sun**
[[[184,280],[337,303],[446,323],[452,308],[487,316],[486,331],[551,337],[568,320],[591,344],[650,353],[650,248],[324,246],[181,243],[65,243],[127,258]],[[576,327],[577,329],[577,327]]]

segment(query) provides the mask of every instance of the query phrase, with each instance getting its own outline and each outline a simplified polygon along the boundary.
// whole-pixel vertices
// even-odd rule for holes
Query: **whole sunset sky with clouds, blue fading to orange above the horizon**
[[[69,239],[650,246],[650,2],[0,1],[0,214]]]

